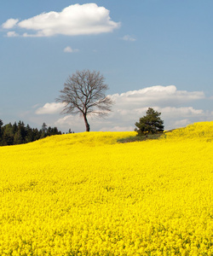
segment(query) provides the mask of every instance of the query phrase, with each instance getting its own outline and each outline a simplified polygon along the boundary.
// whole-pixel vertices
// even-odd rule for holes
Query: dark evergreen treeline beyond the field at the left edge
[[[14,122],[13,125],[11,123],[3,125],[3,121],[0,119],[0,146],[32,143],[41,138],[57,134],[61,134],[61,131],[58,131],[56,127],[47,127],[45,123],[38,130],[37,128],[31,128],[30,125],[25,125],[21,121],[18,124]]]

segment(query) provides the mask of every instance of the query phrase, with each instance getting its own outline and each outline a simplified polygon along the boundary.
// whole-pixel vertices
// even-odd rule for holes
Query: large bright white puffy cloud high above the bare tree
[[[26,30],[34,30],[35,34],[25,32],[23,37],[51,37],[54,35],[85,35],[112,32],[120,26],[112,21],[109,10],[95,3],[83,5],[73,4],[61,12],[51,11],[34,16],[27,20],[9,19],[3,23],[5,29],[18,26]]]

